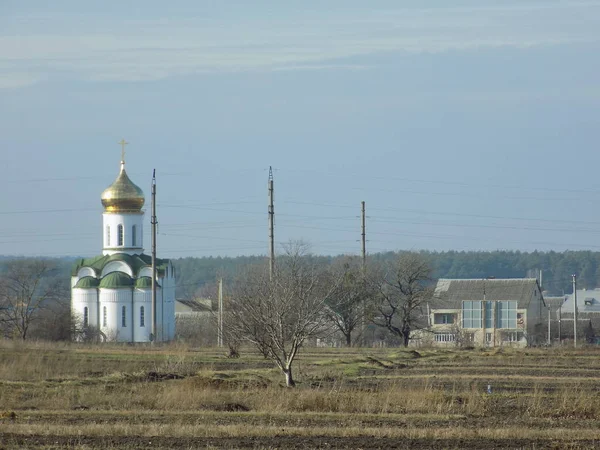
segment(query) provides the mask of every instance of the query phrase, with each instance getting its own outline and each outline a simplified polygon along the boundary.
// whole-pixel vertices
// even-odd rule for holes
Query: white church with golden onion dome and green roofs
[[[122,141],[124,145],[124,141]],[[149,342],[152,258],[144,254],[144,192],[121,171],[102,193],[102,255],[81,259],[71,277],[71,311],[105,341]],[[156,341],[175,336],[175,271],[156,259]]]

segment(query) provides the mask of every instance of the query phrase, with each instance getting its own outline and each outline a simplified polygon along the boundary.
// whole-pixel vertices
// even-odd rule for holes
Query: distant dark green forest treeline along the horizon
[[[563,295],[572,290],[572,274],[577,274],[578,288],[600,286],[600,252],[420,252],[429,261],[432,276],[437,278],[519,278],[539,277],[543,271],[543,288],[549,295]],[[398,256],[395,252],[377,253],[369,258],[388,261]],[[336,256],[313,256],[316,263],[329,264]],[[0,275],[7,261],[15,259],[0,256]],[[53,275],[69,285],[70,270],[76,258],[52,258],[56,262]],[[173,260],[177,270],[177,297],[192,297],[202,292],[205,285],[213,285],[218,277],[231,279],[244,266],[265,261],[264,256],[179,258]]]

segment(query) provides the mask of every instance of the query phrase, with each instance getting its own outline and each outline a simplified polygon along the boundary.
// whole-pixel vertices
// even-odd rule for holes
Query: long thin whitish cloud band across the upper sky
[[[16,19],[23,22],[19,35],[0,36],[0,65],[4,67],[0,88],[23,87],[60,76],[84,81],[149,81],[204,72],[357,70],[363,66],[347,59],[378,53],[597,42],[599,6],[591,2],[522,2],[493,7],[398,8],[364,15],[314,13],[297,21],[115,19],[104,28],[98,24],[89,27],[101,32],[74,31],[66,26],[72,18],[64,15],[61,20],[55,15],[55,28],[45,34],[33,33],[24,19]],[[585,21],[579,20],[583,18]],[[85,21],[80,24],[85,25]]]

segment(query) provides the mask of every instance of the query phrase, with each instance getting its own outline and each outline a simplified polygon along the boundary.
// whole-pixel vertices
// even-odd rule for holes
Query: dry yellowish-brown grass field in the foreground
[[[0,341],[0,448],[600,448],[598,349],[307,348],[295,370]]]

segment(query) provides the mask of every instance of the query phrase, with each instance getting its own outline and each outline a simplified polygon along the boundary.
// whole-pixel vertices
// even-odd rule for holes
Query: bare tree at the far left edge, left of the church
[[[39,312],[60,296],[60,285],[50,278],[54,265],[42,259],[7,264],[0,277],[0,321],[6,336],[27,339]]]

